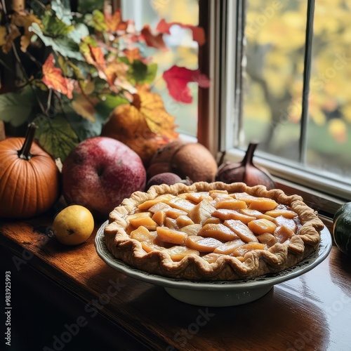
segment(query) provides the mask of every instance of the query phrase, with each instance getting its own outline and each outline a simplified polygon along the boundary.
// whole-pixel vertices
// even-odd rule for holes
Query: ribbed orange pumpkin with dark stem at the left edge
[[[34,143],[35,124],[25,138],[0,141],[0,218],[30,218],[48,211],[60,195],[55,161]]]

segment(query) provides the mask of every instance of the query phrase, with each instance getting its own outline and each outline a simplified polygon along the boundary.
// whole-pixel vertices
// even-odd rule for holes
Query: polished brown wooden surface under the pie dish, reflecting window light
[[[95,235],[80,246],[62,246],[48,236],[50,225],[46,217],[0,223],[0,244],[13,255],[8,265],[19,272],[21,265],[34,267],[84,302],[77,318],[98,310],[151,350],[351,350],[351,258],[336,246],[313,270],[259,300],[201,307],[106,265]]]

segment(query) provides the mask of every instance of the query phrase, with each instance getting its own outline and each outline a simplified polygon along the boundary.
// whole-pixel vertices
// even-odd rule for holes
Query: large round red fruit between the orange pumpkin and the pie
[[[144,191],[145,182],[146,171],[138,154],[112,138],[82,141],[62,164],[67,204],[85,206],[96,218],[107,219],[123,199]]]

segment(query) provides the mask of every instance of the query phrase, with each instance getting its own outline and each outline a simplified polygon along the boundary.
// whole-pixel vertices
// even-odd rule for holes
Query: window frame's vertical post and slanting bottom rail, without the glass
[[[206,33],[206,44],[199,50],[199,69],[208,74],[211,87],[206,90],[199,88],[197,138],[216,159],[219,160],[225,152],[223,161],[237,162],[244,156],[244,150],[233,148],[230,140],[239,138],[242,114],[242,68],[245,65],[242,52],[245,42],[241,36],[244,20],[238,21],[238,18],[244,13],[245,0],[199,0],[199,6],[199,25]],[[227,33],[232,33],[232,36]],[[235,50],[232,50],[233,38],[237,39]],[[279,188],[290,194],[300,194],[329,221],[341,204],[351,201],[351,185],[340,188],[337,181],[312,175],[302,167],[293,171],[279,159],[268,159],[262,152],[256,152],[254,161],[256,166],[263,166],[272,174]]]

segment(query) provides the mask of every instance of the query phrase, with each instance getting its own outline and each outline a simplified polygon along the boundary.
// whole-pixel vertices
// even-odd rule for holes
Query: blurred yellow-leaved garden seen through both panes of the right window
[[[240,145],[351,183],[351,2],[316,0],[307,138],[299,155],[307,1],[246,0]]]

